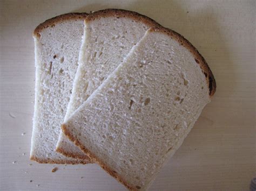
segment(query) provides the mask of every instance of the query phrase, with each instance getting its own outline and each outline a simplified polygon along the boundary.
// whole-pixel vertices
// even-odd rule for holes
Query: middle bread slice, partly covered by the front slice
[[[118,9],[97,11],[86,17],[79,67],[65,118],[116,69],[146,30],[157,25],[146,16]],[[56,150],[68,156],[79,157],[77,150],[69,149],[72,146],[68,140],[60,133]]]

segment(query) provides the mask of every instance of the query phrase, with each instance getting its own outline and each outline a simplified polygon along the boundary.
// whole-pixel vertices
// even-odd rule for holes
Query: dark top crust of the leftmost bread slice
[[[71,20],[71,19],[85,19],[87,17],[87,13],[66,13],[64,15],[59,15],[57,17],[53,17],[51,19],[45,20],[45,22],[39,24],[35,31],[33,32],[34,38],[40,38],[41,37],[41,31],[43,29],[46,29],[47,27],[51,26],[54,27],[57,23],[61,23],[65,20]]]

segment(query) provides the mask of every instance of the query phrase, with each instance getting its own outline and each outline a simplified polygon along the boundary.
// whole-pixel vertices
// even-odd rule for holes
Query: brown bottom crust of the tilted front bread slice
[[[121,182],[126,188],[129,190],[138,190],[136,187],[129,185],[122,177],[120,177],[117,172],[113,171],[111,168],[109,168],[102,160],[100,160],[98,157],[96,157],[95,154],[93,154],[90,150],[88,150],[85,146],[83,146],[77,138],[75,138],[72,133],[69,131],[69,128],[65,126],[65,124],[62,124],[62,131],[68,137],[75,145],[77,145],[86,155],[88,155],[94,162],[96,162],[100,167],[102,167],[107,173],[109,173],[111,176],[113,176],[115,179],[117,179],[119,182]]]

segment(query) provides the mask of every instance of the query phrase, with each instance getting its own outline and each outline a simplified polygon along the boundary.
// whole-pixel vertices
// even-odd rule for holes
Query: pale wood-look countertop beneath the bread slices
[[[105,8],[137,11],[179,32],[205,57],[217,81],[212,102],[150,190],[248,190],[256,176],[253,0],[0,1],[0,190],[125,190],[97,165],[29,160],[32,31],[62,13]],[[58,171],[52,173],[53,167]]]

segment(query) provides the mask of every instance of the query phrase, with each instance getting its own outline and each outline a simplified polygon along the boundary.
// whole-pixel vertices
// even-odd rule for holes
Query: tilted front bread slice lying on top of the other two
[[[145,190],[176,152],[215,91],[204,58],[176,32],[146,32],[62,125],[114,178]]]

